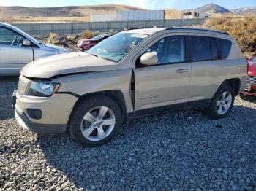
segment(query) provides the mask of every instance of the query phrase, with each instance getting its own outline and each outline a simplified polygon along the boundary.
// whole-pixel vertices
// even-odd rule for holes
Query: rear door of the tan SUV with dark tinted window
[[[216,38],[211,36],[190,36],[191,84],[189,101],[192,104],[208,104],[223,80],[225,67],[219,59]]]

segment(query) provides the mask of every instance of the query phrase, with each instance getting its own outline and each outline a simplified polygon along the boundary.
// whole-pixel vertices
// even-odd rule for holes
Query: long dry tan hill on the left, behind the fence
[[[1,7],[0,20],[11,23],[45,23],[89,21],[92,13],[114,13],[117,10],[142,10],[121,4],[67,7]]]

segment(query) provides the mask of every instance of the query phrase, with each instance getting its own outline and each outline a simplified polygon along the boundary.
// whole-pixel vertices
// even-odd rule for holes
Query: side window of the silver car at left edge
[[[0,44],[10,46],[22,46],[23,36],[16,34],[10,29],[0,27]]]

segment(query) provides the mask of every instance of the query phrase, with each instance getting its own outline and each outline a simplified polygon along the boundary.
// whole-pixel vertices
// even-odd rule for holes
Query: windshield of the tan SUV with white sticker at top
[[[118,62],[147,36],[147,34],[118,33],[91,47],[87,53]]]

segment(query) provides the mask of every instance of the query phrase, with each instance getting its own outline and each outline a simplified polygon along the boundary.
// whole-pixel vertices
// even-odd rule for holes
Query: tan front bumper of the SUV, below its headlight
[[[65,93],[54,94],[48,98],[13,93],[16,120],[23,128],[37,133],[64,133],[77,100],[75,96]],[[41,111],[42,116],[33,118],[29,113],[30,109]]]

